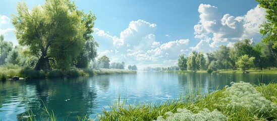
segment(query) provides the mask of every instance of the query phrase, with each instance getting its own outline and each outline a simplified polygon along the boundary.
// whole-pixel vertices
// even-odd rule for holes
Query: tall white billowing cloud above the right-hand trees
[[[191,49],[204,52],[211,51],[220,44],[232,46],[232,43],[242,39],[260,41],[259,25],[266,21],[265,10],[259,6],[239,17],[230,14],[221,17],[217,7],[203,4],[199,6],[198,12],[200,20],[194,26],[194,34],[200,42]]]

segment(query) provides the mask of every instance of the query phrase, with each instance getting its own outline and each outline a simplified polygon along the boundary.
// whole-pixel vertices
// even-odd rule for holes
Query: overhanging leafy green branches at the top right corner
[[[267,22],[261,25],[260,33],[263,35],[263,42],[272,41],[272,48],[277,48],[277,0],[256,0],[259,6],[267,13]]]

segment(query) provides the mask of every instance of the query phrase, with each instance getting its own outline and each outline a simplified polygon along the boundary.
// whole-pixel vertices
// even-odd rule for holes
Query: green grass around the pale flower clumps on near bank
[[[243,83],[246,84],[246,83]],[[243,86],[243,85],[242,85]],[[245,86],[245,85],[244,85]],[[249,86],[249,85],[248,85]],[[251,88],[251,87],[249,87]],[[231,89],[231,87],[230,87]],[[236,88],[235,88],[236,89]],[[275,105],[277,104],[277,84],[269,84],[269,85],[259,85],[252,87],[252,89],[256,89],[253,93],[259,93],[264,96],[269,101],[272,101]],[[236,89],[237,90],[237,89]],[[168,100],[164,103],[135,103],[128,104],[126,99],[119,100],[115,102],[113,105],[110,105],[110,110],[104,109],[102,114],[100,115],[100,120],[153,120],[157,119],[158,116],[162,118],[166,118],[171,113],[177,113],[178,108],[187,109],[191,112],[197,114],[201,112],[201,110],[208,109],[209,111],[218,110],[223,115],[227,117],[227,120],[276,120],[277,119],[277,109],[272,108],[269,111],[263,111],[268,108],[257,108],[255,110],[251,110],[248,108],[241,108],[244,106],[243,102],[239,106],[235,105],[232,107],[226,106],[231,103],[230,100],[228,102],[224,101],[225,98],[228,98],[229,89],[222,89],[212,93],[209,93],[205,97],[197,98],[187,98],[191,96],[183,96],[179,100]],[[199,92],[197,92],[199,93]],[[197,94],[194,94],[197,95]],[[256,94],[252,94],[252,96]],[[257,97],[257,100],[263,97]],[[185,101],[184,99],[189,99]],[[243,100],[243,99],[242,99]],[[231,100],[232,101],[232,100]],[[120,103],[119,103],[120,102]],[[235,104],[236,104],[235,103]],[[259,102],[257,102],[259,103]],[[272,103],[272,104],[273,104]],[[232,103],[231,103],[232,104]],[[261,103],[263,104],[263,103]]]

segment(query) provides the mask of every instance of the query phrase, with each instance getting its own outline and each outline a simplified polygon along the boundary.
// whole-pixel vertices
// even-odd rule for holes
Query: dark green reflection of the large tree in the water
[[[37,119],[47,119],[42,110],[42,101],[49,111],[54,111],[59,120],[76,120],[77,115],[94,113],[96,93],[94,88],[89,88],[88,77],[36,80],[29,81],[28,84],[36,86],[36,103],[39,105],[26,105],[32,105],[30,108]],[[26,111],[27,114],[28,111],[30,110]]]

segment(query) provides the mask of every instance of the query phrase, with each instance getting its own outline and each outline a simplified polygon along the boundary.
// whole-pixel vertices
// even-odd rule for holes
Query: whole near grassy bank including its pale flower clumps
[[[201,96],[182,96],[165,103],[128,104],[126,100],[103,110],[100,120],[276,120],[277,84],[231,87]],[[186,99],[186,100],[184,100]],[[196,99],[196,101],[195,101]]]

